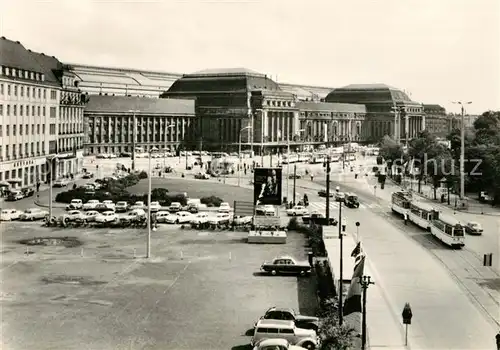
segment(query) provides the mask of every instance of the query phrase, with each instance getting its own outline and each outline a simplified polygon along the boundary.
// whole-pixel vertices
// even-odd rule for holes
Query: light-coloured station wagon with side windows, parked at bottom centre
[[[319,337],[312,329],[299,328],[293,321],[265,319],[257,322],[250,344],[262,345],[261,341],[269,340],[271,337],[285,339],[290,344],[305,349],[319,349],[320,345]]]

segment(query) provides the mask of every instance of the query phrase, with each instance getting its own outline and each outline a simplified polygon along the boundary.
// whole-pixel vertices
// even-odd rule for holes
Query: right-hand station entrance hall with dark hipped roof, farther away
[[[379,141],[385,135],[405,141],[425,129],[422,104],[412,101],[402,90],[385,84],[347,85],[334,89],[325,101],[365,105],[367,135],[371,141]]]

